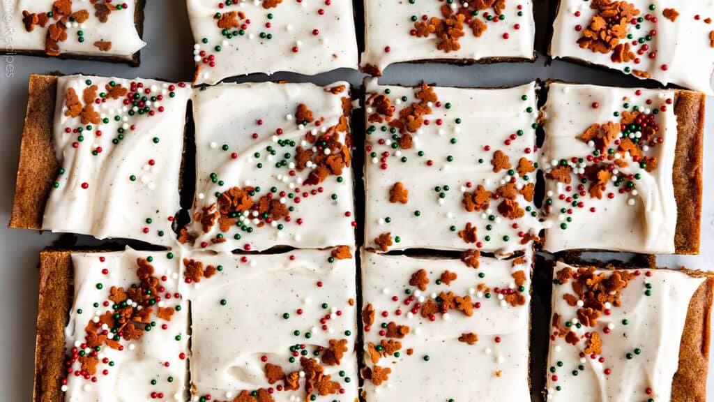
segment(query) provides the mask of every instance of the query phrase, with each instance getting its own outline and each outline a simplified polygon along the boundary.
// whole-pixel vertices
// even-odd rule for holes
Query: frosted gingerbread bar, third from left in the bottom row
[[[530,401],[531,252],[512,260],[364,253],[368,402]]]

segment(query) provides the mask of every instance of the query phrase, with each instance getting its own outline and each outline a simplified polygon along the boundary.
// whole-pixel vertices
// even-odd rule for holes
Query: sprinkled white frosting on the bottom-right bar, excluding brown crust
[[[669,401],[688,305],[704,280],[557,263],[548,401]]]

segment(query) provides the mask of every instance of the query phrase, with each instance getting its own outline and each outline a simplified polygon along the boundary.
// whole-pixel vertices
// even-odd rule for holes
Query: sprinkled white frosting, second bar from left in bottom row
[[[353,253],[186,255],[193,400],[355,401]]]

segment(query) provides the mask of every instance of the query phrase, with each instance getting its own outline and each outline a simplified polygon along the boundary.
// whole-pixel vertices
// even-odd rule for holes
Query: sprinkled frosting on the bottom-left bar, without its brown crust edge
[[[71,258],[65,401],[186,401],[188,304],[178,259],[128,247]]]

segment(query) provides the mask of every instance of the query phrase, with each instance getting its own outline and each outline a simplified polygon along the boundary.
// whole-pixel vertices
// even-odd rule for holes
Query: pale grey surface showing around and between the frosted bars
[[[337,0],[346,1],[346,0]],[[357,0],[359,1],[359,0]],[[395,0],[385,0],[395,1]],[[147,0],[144,40],[148,45],[141,51],[141,67],[124,64],[79,62],[71,60],[44,59],[39,57],[14,57],[0,59],[0,400],[30,401],[34,373],[35,318],[38,287],[39,252],[48,245],[69,247],[71,245],[98,244],[87,237],[74,235],[39,234],[28,230],[11,230],[9,222],[14,195],[15,175],[19,160],[20,137],[27,102],[27,80],[30,73],[47,74],[96,74],[124,78],[160,78],[171,81],[191,81],[193,78],[193,55],[191,32],[188,28],[186,6],[183,0]],[[555,61],[549,65],[542,51],[547,47],[549,15],[553,5],[547,0],[536,0],[538,59],[534,64],[495,64],[458,67],[439,64],[401,64],[386,69],[383,84],[418,84],[422,80],[443,86],[503,87],[523,84],[534,79],[561,79],[568,82],[583,82],[623,87],[657,87],[654,82],[641,82],[617,72],[605,72],[590,67]],[[358,9],[360,7],[358,6]],[[361,11],[358,11],[360,14]],[[361,29],[361,16],[357,17]],[[14,69],[12,77],[4,72]],[[353,85],[361,85],[363,75],[348,69],[321,74],[316,77],[276,74],[271,79],[311,81],[328,84],[346,79]],[[264,75],[241,77],[238,81],[265,81]],[[361,92],[361,91],[360,91]],[[705,136],[705,195],[702,216],[702,254],[698,256],[667,256],[658,258],[661,266],[671,268],[686,265],[688,268],[709,270],[714,259],[714,214],[712,191],[714,185],[708,179],[714,172],[714,159],[708,157],[708,149],[714,146],[711,136],[714,124],[714,99],[709,98]],[[361,137],[361,136],[360,136]],[[356,152],[361,152],[358,145]],[[361,195],[360,195],[361,197]],[[535,319],[544,318],[542,312]],[[543,328],[535,325],[535,328]],[[542,350],[534,350],[536,355]],[[709,388],[714,383],[714,370],[710,370]],[[538,371],[534,374],[537,375]],[[534,379],[534,385],[542,383]],[[539,389],[533,390],[538,395]],[[710,399],[714,392],[710,390]]]

